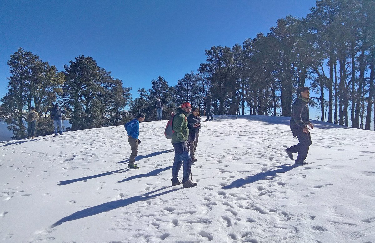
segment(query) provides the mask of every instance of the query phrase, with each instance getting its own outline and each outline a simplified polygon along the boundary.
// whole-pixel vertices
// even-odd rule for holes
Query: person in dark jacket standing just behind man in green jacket
[[[190,157],[192,162],[198,161],[194,157],[196,145],[198,144],[199,138],[199,129],[201,128],[201,118],[199,117],[199,108],[193,108],[191,110],[192,114],[187,117],[187,127],[189,128],[189,138],[187,139],[190,142]]]

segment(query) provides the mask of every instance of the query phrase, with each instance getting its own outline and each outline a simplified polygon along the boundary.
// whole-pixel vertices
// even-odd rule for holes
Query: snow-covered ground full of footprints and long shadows
[[[313,121],[296,166],[287,117],[214,119],[187,189],[166,121],[140,124],[137,170],[123,126],[0,142],[0,242],[375,242],[374,131]]]

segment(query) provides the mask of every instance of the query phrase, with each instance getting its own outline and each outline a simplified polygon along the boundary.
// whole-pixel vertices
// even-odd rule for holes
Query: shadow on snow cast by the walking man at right
[[[290,164],[288,164],[288,165],[290,165]],[[254,183],[255,181],[258,181],[258,180],[272,180],[273,178],[275,178],[277,173],[285,173],[285,172],[290,171],[291,169],[297,168],[299,166],[298,164],[294,164],[294,165],[290,165],[290,166],[288,166],[288,165],[280,165],[280,166],[278,166],[278,168],[280,168],[280,169],[275,169],[275,170],[269,169],[267,171],[260,172],[256,175],[249,175],[246,178],[237,179],[237,180],[233,181],[231,184],[223,186],[222,189],[232,189],[234,187],[238,188],[238,187],[241,187],[245,184]]]

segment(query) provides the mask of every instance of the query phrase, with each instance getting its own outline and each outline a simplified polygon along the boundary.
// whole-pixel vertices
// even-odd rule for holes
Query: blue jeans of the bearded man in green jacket
[[[191,157],[188,151],[182,151],[182,142],[172,143],[174,147],[174,162],[172,167],[172,182],[178,181],[178,171],[180,171],[182,161],[184,162],[182,183],[189,180]]]

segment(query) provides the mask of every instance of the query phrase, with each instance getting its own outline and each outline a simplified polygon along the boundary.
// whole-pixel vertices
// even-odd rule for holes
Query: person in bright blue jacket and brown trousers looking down
[[[138,145],[141,143],[141,140],[138,138],[139,123],[144,121],[144,118],[145,114],[139,113],[133,120],[124,124],[128,136],[129,145],[132,150],[132,153],[129,157],[129,163],[127,164],[127,168],[130,169],[139,169],[139,166],[137,166],[137,164],[135,163],[135,156],[137,156],[138,154]]]

